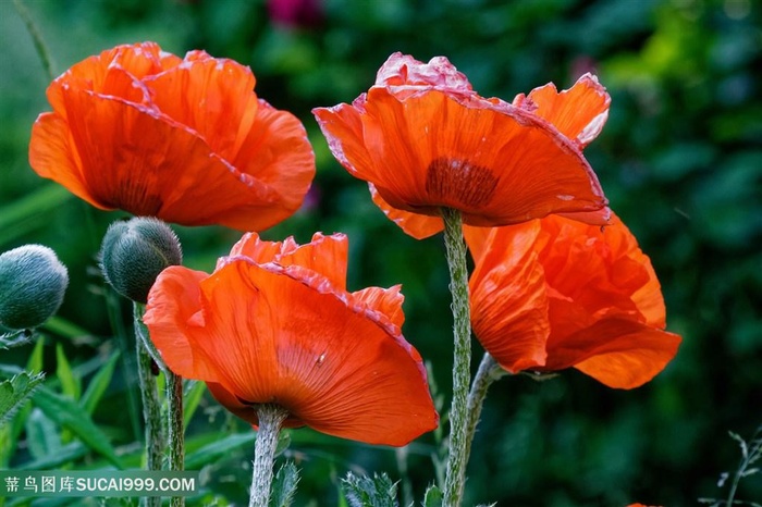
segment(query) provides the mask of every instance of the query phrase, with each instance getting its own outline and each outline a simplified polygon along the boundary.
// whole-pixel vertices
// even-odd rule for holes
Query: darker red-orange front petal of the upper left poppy
[[[272,188],[238,173],[183,125],[82,90],[70,90],[65,103],[83,180],[100,208],[185,225],[266,228],[280,220],[267,213],[278,202]],[[49,171],[60,181],[54,168]]]

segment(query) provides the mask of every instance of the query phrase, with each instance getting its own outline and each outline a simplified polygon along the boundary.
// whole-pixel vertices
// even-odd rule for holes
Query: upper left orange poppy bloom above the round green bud
[[[302,123],[254,85],[248,67],[204,51],[119,46],[51,83],[29,163],[100,209],[267,228],[299,208],[315,157]]]

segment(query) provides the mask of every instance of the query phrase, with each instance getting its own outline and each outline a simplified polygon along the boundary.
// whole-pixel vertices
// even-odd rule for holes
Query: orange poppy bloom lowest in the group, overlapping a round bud
[[[209,275],[164,270],[144,321],[175,373],[207,382],[255,426],[257,404],[284,426],[405,445],[437,428],[421,357],[402,336],[400,286],[348,293],[347,239],[308,245],[245,235]]]

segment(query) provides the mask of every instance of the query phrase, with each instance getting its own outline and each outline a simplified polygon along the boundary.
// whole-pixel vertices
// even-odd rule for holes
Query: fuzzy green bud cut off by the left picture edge
[[[37,327],[58,311],[69,285],[66,268],[41,245],[0,255],[0,325]]]

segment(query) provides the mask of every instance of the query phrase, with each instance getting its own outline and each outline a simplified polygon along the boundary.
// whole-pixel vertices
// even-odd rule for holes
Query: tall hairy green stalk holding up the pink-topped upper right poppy
[[[471,379],[471,318],[468,302],[468,265],[460,212],[442,208],[444,245],[453,296],[453,404],[450,409],[450,453],[444,479],[444,507],[459,507],[466,482],[468,386]]]

